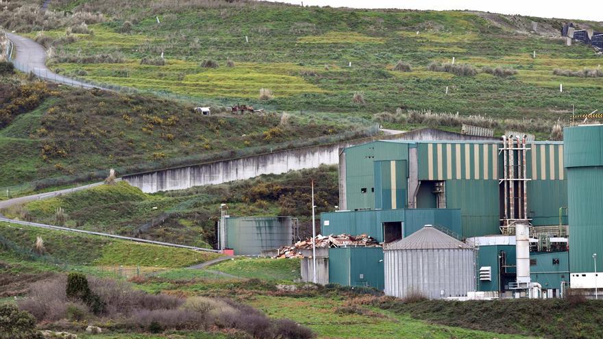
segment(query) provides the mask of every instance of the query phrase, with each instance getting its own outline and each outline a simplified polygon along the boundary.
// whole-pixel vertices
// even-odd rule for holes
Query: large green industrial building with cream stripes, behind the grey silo
[[[321,214],[321,233],[367,234],[389,244],[432,225],[453,238],[477,241],[514,239],[515,223],[529,223],[530,237],[537,239],[530,238],[537,241],[530,242],[530,277],[545,296],[557,297],[569,281],[571,260],[566,167],[563,142],[525,138],[382,140],[347,147],[340,151],[340,210]],[[504,292],[515,281],[515,244],[483,241],[475,243],[477,289]],[[376,286],[365,275],[365,281],[356,277],[365,263],[353,251],[330,251],[330,282]],[[384,275],[382,266],[374,270]]]

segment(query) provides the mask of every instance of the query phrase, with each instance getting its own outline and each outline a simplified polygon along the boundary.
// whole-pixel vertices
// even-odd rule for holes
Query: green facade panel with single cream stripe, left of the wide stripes
[[[406,160],[382,160],[374,162],[375,208],[391,210],[406,208],[408,187]]]

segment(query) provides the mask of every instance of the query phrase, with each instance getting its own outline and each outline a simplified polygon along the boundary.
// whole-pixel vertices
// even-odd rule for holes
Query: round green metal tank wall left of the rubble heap
[[[226,246],[234,253],[257,255],[267,249],[291,245],[291,217],[226,218]]]

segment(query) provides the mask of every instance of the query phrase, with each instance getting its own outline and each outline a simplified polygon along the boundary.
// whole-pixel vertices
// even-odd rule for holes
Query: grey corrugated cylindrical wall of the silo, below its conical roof
[[[385,294],[393,297],[419,292],[441,299],[476,290],[472,249],[386,250],[384,264]]]

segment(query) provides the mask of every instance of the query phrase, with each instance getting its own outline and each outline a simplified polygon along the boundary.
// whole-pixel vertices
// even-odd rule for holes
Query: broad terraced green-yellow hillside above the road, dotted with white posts
[[[65,0],[53,1],[53,8],[104,16],[88,26],[93,33],[66,36],[68,23],[45,27],[38,40],[54,46],[51,67],[117,86],[286,110],[376,113],[403,108],[497,118],[567,120],[571,105],[591,112],[603,103],[603,77],[552,73],[554,68],[598,68],[602,61],[591,47],[564,45],[558,38],[562,20],[244,1],[137,1],[124,6]],[[538,23],[539,32],[530,32],[531,21]],[[577,25],[602,30],[600,23]],[[40,27],[23,27],[28,29]],[[161,53],[162,66],[140,64],[143,58],[158,60]],[[103,54],[117,60],[107,61]],[[459,76],[428,70],[430,62],[453,57],[456,64],[477,71],[504,66],[517,74]],[[219,67],[204,68],[203,60]],[[398,60],[408,62],[412,71],[394,71]],[[272,90],[273,99],[260,101],[260,88]],[[352,101],[357,91],[364,93],[365,103]]]

